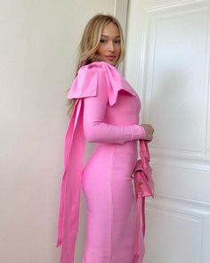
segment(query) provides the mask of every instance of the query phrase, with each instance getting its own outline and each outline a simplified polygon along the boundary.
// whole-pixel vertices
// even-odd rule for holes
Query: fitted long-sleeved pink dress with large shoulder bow
[[[69,98],[77,98],[77,102],[80,102],[80,115],[82,112],[83,117],[78,117],[78,114],[75,116],[80,118],[80,132],[83,129],[81,136],[88,142],[97,143],[92,156],[77,172],[77,189],[81,184],[87,204],[83,263],[133,263],[136,201],[131,176],[137,160],[138,139],[145,138],[144,129],[138,125],[141,110],[139,96],[117,68],[106,62],[93,62],[78,70]],[[74,145],[72,142],[71,139]],[[74,149],[72,145],[71,148]],[[79,144],[76,144],[75,151],[78,151],[77,148],[81,148]],[[81,154],[77,152],[80,159],[84,159]],[[67,162],[70,161],[69,156],[66,157]],[[68,205],[66,200],[73,200],[77,196],[73,193],[69,195],[70,187],[71,191],[75,191],[75,188],[72,181],[68,190],[68,180],[66,176],[66,183],[63,183],[65,190],[61,194],[59,222],[62,226],[59,226],[61,240],[58,241],[58,245],[62,244],[61,263],[74,262],[74,251],[70,250],[74,250],[77,236],[77,224],[75,234],[70,237],[70,234],[65,233],[74,232],[73,221],[72,227],[70,224],[67,226],[68,223],[65,225],[65,220],[68,221],[74,213],[74,208],[71,211],[65,209],[65,205]],[[75,180],[74,177],[72,180]],[[72,202],[69,202],[69,206],[74,207]],[[77,219],[78,210],[75,222]],[[141,255],[138,263],[142,262],[144,255],[142,235],[140,239]]]

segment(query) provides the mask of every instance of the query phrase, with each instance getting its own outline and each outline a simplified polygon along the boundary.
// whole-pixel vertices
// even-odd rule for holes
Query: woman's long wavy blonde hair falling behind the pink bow
[[[82,39],[79,44],[78,48],[78,58],[77,58],[77,70],[76,72],[82,67],[92,62],[100,62],[102,58],[96,54],[98,46],[101,40],[101,34],[104,27],[106,27],[109,23],[114,23],[117,28],[119,29],[120,34],[120,54],[116,62],[116,67],[120,62],[123,61],[125,57],[125,45],[124,45],[124,35],[123,30],[120,26],[120,23],[117,21],[115,17],[112,15],[105,15],[105,14],[97,14],[93,16],[93,18],[88,21],[86,24]],[[76,73],[77,76],[77,73]],[[69,115],[74,108],[76,103],[75,99],[68,100]]]

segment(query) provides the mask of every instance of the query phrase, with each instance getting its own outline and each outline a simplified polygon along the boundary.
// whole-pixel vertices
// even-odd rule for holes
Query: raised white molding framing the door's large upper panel
[[[208,4],[209,5],[209,4]],[[176,6],[173,4],[167,4],[167,7],[171,7],[171,6]],[[150,9],[151,10],[151,9]],[[149,87],[149,89],[147,90],[147,93],[145,91],[145,88],[142,88],[142,99],[143,102],[145,103],[144,107],[147,109],[146,113],[144,114],[143,118],[144,122],[148,122],[148,115],[149,115],[149,101],[151,100],[151,94],[152,94],[152,74],[153,74],[153,66],[154,66],[154,55],[155,55],[155,48],[154,48],[154,52],[151,54],[152,57],[150,57],[149,61],[152,62],[150,64],[150,72],[152,72],[151,75],[148,74],[144,74],[145,72],[145,46],[148,45],[148,34],[153,31],[153,34],[151,35],[152,39],[150,39],[149,45],[151,46],[155,46],[155,41],[156,41],[156,28],[157,28],[157,22],[159,20],[163,20],[166,17],[173,17],[173,16],[177,16],[177,15],[182,15],[183,13],[192,13],[192,12],[203,12],[206,11],[208,13],[210,13],[210,7],[207,8],[206,7],[200,7],[200,8],[192,8],[191,10],[187,10],[184,12],[171,12],[171,13],[162,13],[162,9],[158,9],[158,14],[156,14],[155,12],[157,11],[157,9],[152,10],[153,13],[149,13],[148,12],[149,9],[145,9],[143,12],[143,26],[145,27],[145,29],[143,30],[142,33],[142,40],[141,40],[141,55],[139,55],[139,60],[138,60],[138,78],[137,78],[137,87],[139,88],[140,86],[145,86],[147,85]],[[150,24],[150,30],[148,29],[148,21],[151,21]],[[209,29],[209,21],[208,21],[208,32],[210,32]],[[202,136],[203,141],[202,141],[202,149],[201,150],[188,150],[188,149],[171,149],[171,148],[164,148],[164,147],[160,147],[160,145],[156,145],[154,143],[151,144],[151,152],[154,154],[154,156],[156,156],[156,160],[158,160],[158,156],[162,155],[162,156],[170,156],[170,157],[177,157],[178,159],[186,159],[188,161],[196,159],[199,161],[203,161],[204,165],[203,167],[206,169],[210,168],[209,165],[209,160],[210,160],[210,151],[209,149],[206,148],[207,145],[207,141],[209,140],[208,138],[208,132],[209,132],[209,121],[207,119],[208,116],[208,111],[210,111],[209,109],[209,101],[208,101],[208,96],[210,95],[210,91],[209,91],[209,61],[210,61],[210,50],[209,50],[209,42],[210,42],[210,33],[208,33],[208,39],[206,40],[206,69],[205,69],[205,86],[206,86],[206,108],[205,108],[205,112],[204,114],[206,115],[206,129],[204,131],[204,136]],[[140,70],[141,69],[141,70]],[[140,72],[141,71],[141,78],[140,78]],[[145,76],[147,78],[145,78]],[[146,81],[146,84],[145,84]],[[210,137],[210,136],[209,136]],[[194,160],[193,160],[194,161]]]

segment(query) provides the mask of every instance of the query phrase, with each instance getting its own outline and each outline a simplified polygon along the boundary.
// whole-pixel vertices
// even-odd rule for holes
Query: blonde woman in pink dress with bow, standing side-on
[[[77,77],[68,95],[74,109],[61,186],[61,263],[74,262],[81,185],[87,203],[83,263],[133,262],[136,201],[131,176],[138,140],[151,141],[154,130],[139,125],[140,99],[117,71],[124,53],[118,21],[94,16],[85,27]],[[84,166],[85,140],[97,144]],[[138,262],[144,254],[142,239]]]

